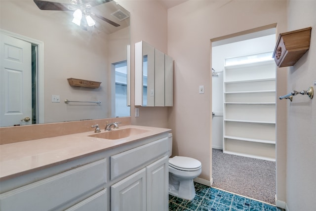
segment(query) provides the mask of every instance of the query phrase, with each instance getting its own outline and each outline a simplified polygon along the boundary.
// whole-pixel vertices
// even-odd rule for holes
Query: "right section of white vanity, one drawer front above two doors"
[[[111,179],[133,172],[111,186],[111,211],[168,210],[167,141],[165,137],[111,157]]]

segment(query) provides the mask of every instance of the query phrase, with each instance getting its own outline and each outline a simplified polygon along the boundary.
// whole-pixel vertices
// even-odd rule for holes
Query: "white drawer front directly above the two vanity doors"
[[[134,172],[154,159],[168,152],[168,138],[162,138],[149,144],[111,156],[111,179]]]

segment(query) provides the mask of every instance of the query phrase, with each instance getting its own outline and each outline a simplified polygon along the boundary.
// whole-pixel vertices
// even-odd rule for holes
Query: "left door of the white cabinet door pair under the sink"
[[[146,169],[111,186],[111,211],[146,211]]]

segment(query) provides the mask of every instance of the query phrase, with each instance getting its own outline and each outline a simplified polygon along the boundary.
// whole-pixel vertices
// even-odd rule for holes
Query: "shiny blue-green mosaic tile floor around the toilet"
[[[191,201],[169,195],[169,211],[284,211],[196,182],[195,187],[196,197]]]

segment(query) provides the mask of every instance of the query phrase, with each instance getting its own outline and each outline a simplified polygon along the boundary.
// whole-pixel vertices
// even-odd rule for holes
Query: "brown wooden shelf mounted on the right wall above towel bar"
[[[310,48],[312,27],[281,33],[273,58],[278,67],[293,66]]]

